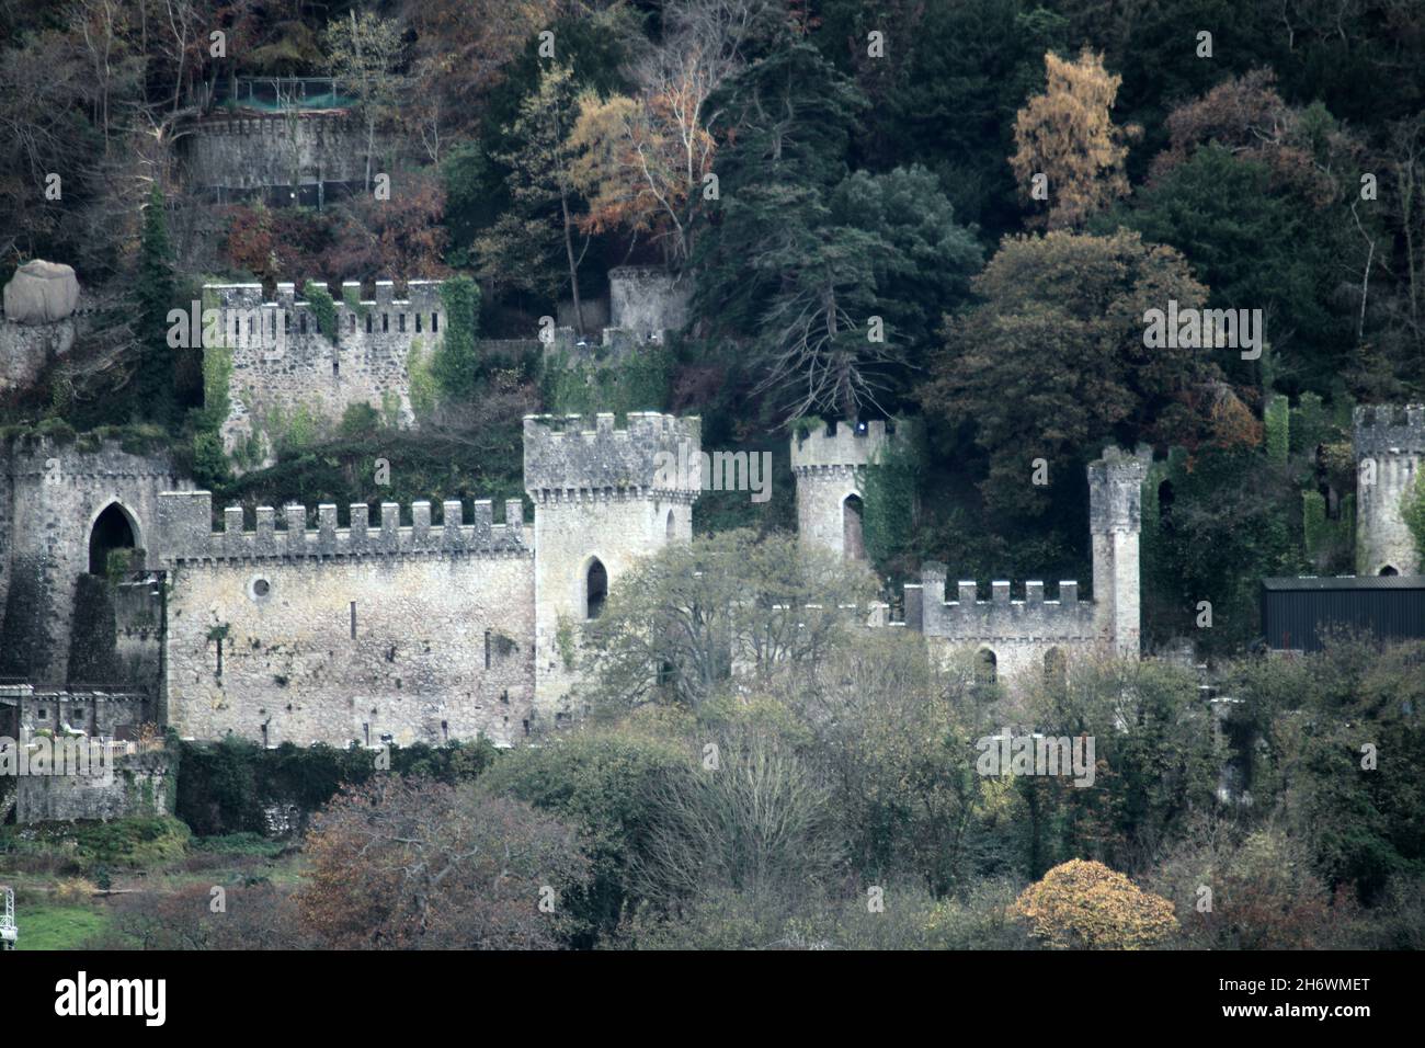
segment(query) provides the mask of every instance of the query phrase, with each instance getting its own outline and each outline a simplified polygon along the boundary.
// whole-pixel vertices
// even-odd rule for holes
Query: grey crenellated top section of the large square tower
[[[627,429],[616,429],[614,416],[607,412],[596,415],[590,429],[583,415],[524,416],[524,489],[532,498],[574,492],[697,498],[700,475],[680,463],[697,463],[703,419],[631,411]]]

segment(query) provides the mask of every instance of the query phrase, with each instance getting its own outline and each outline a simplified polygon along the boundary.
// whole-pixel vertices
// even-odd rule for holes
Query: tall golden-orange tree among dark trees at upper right
[[[1109,118],[1123,77],[1109,76],[1103,56],[1084,48],[1077,61],[1045,54],[1047,84],[1015,114],[1010,157],[1025,200],[1047,201],[1037,221],[1050,230],[1074,228],[1129,192],[1123,160],[1136,125]]]

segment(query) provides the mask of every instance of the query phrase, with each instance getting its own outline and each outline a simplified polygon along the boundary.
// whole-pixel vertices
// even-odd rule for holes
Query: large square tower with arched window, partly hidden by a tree
[[[583,623],[638,560],[693,538],[703,422],[628,412],[524,418],[524,489],[534,500],[534,703],[554,720],[579,683]],[[691,476],[690,476],[691,473]]]

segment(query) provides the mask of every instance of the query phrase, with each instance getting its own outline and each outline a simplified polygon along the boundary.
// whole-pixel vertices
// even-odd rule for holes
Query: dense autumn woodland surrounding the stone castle
[[[190,121],[252,76],[339,77],[389,200],[195,198]],[[167,445],[218,506],[513,496],[532,411],[697,413],[705,448],[777,456],[765,506],[704,495],[693,548],[611,595],[586,730],[425,777],[323,766],[282,794],[316,808],[348,783],[298,887],[235,888],[259,923],[214,918],[194,887],[125,903],[113,944],[1421,944],[1425,653],[1254,652],[1261,577],[1354,570],[1351,409],[1425,396],[1416,0],[0,0],[0,279],[68,262],[101,315],[0,402],[6,432]],[[586,382],[487,352],[566,301],[583,328],[623,264],[691,287],[667,345]],[[378,278],[446,278],[465,305],[418,428],[294,419],[275,466],[235,471],[221,369],[168,346],[168,309],[205,279]],[[1264,351],[1147,348],[1167,299],[1261,309]],[[915,435],[869,471],[874,570],[811,563],[788,539],[788,438],[871,418]],[[640,640],[711,563],[700,606],[893,599],[925,560],[1089,579],[1083,466],[1110,442],[1157,452],[1144,647],[1211,660],[1241,700],[1223,730],[1196,672],[1161,662],[1010,697],[829,620],[768,653],[770,623],[731,615],[761,667],[734,687],[700,640]],[[1094,734],[1097,787],[975,776],[1003,723]],[[735,774],[700,774],[708,744]],[[185,756],[180,816],[259,830],[274,760]],[[1247,797],[1218,800],[1224,763]],[[363,858],[373,838],[389,858]],[[490,841],[517,841],[507,893],[479,888]],[[459,875],[422,881],[402,848]],[[557,920],[529,905],[551,883]],[[1107,910],[1086,917],[1089,895]]]

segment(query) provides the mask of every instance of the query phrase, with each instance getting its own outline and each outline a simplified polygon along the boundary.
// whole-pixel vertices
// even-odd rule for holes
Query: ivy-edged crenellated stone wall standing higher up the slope
[[[312,305],[296,298],[292,284],[278,284],[271,302],[261,284],[205,288],[221,309],[222,342],[232,356],[222,423],[229,453],[255,439],[259,458],[271,462],[282,426],[299,412],[325,428],[341,422],[352,404],[393,409],[399,425],[415,421],[410,354],[429,356],[446,329],[440,282],[410,281],[408,297],[398,299],[390,281],[378,281],[375,299],[353,308],[348,298],[355,301],[359,289],[342,285],[332,339],[318,331]]]

